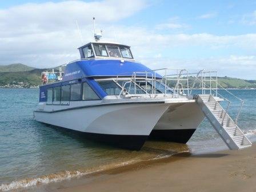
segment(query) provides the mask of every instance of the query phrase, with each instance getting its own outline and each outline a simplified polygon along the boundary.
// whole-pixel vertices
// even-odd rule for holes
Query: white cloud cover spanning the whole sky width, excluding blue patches
[[[256,49],[256,33],[171,34],[166,33],[165,30],[163,30],[165,33],[159,33],[158,29],[161,27],[184,29],[186,25],[180,22],[178,17],[151,26],[151,29],[143,26],[117,25],[116,21],[134,15],[145,6],[145,1],[135,0],[129,3],[125,1],[63,1],[29,3],[0,10],[0,64],[21,62],[43,68],[78,59],[77,47],[81,46],[81,42],[75,19],[78,20],[83,41],[86,43],[92,40],[92,17],[96,17],[97,28],[104,31],[103,40],[130,45],[135,58],[145,62],[149,67],[186,69],[212,67],[215,70],[223,69],[226,75],[229,75],[230,70],[249,69],[249,73],[255,71],[255,55],[244,53],[246,51],[251,53],[252,49]],[[234,49],[239,52],[228,51]],[[170,53],[174,52],[182,57],[173,58],[175,54],[169,55],[167,52],[169,50]],[[202,54],[205,50],[210,53],[209,57]],[[219,53],[227,51],[226,56],[211,57],[211,53],[214,55],[218,51]],[[186,57],[189,54],[193,57]]]

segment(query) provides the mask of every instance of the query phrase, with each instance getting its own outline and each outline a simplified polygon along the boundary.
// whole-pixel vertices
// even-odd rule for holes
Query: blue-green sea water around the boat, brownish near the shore
[[[253,138],[256,129],[256,90],[229,90],[245,100],[238,126]],[[233,105],[235,118],[241,102],[219,90]],[[141,151],[129,151],[88,141],[77,133],[33,120],[38,89],[0,89],[0,191],[62,181],[135,162],[170,157],[190,151],[227,149],[207,120],[185,144],[148,141]],[[226,106],[225,102],[222,102]]]

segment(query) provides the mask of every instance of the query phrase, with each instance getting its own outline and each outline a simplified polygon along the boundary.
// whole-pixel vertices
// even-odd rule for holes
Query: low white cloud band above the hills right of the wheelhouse
[[[218,71],[218,76],[229,76],[243,79],[255,79],[255,55],[227,55],[226,57],[209,57],[197,59],[141,58],[144,63],[151,63],[152,69],[172,68],[187,69],[189,73],[199,70]],[[238,72],[239,71],[239,72]]]

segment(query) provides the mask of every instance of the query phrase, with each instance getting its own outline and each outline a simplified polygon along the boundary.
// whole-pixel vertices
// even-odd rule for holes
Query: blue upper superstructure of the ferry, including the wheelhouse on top
[[[57,72],[54,72],[53,69],[42,74],[42,81],[43,78],[47,77],[49,82],[54,82],[40,87],[39,102],[47,102],[47,89],[59,87],[59,90],[55,90],[57,91],[56,93],[54,90],[52,91],[52,99],[54,101],[54,94],[60,94],[61,96],[59,97],[62,99],[62,86],[73,85],[75,83],[81,83],[81,85],[83,85],[83,82],[86,82],[98,98],[102,99],[110,93],[106,93],[106,90],[103,90],[95,79],[132,77],[134,71],[136,71],[136,77],[147,76],[147,78],[162,78],[161,75],[155,73],[155,71],[152,71],[145,65],[135,62],[129,46],[117,43],[94,42],[79,47],[78,50],[81,54],[81,59],[67,64],[65,71],[59,68]],[[49,78],[53,76],[55,78]],[[81,93],[82,89],[81,87]],[[117,89],[119,89],[119,87],[117,87]],[[61,92],[59,93],[60,90]],[[70,92],[71,91],[70,88]],[[143,91],[141,91],[141,93],[143,93]],[[61,102],[59,103],[59,105],[61,105]]]

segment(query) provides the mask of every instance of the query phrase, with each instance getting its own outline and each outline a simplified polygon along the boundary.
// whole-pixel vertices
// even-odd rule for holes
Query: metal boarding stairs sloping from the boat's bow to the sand
[[[229,149],[238,150],[251,146],[251,142],[239,129],[236,121],[233,121],[213,95],[199,94],[197,103]]]

